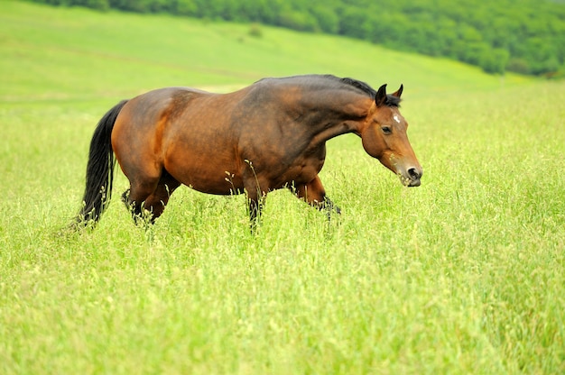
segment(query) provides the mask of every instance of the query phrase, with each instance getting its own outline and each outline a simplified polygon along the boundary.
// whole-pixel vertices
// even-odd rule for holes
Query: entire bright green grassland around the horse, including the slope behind
[[[0,3],[0,373],[565,372],[565,82],[361,41]],[[80,207],[97,120],[154,87],[332,73],[405,86],[420,188],[328,143],[328,222],[181,188],[153,226]]]

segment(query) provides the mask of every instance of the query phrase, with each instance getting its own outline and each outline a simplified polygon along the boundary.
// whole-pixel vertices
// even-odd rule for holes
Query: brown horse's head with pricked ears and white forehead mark
[[[391,95],[381,86],[359,135],[365,151],[399,175],[403,185],[418,187],[423,172],[406,135],[408,123],[398,110],[402,93],[402,85]]]

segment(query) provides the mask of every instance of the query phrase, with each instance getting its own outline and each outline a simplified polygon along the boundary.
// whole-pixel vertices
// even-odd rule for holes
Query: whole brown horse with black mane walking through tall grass
[[[97,222],[106,209],[114,155],[130,181],[126,205],[134,215],[148,211],[152,221],[181,184],[209,194],[245,192],[252,223],[262,198],[278,188],[330,209],[318,173],[326,141],[344,133],[356,133],[369,155],[417,187],[422,169],[399,112],[403,86],[392,95],[385,87],[310,75],[265,78],[230,94],[168,87],[122,101],[90,143],[78,222]]]

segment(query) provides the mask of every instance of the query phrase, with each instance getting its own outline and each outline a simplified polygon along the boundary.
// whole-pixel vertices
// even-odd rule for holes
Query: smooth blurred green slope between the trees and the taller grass
[[[264,77],[331,73],[406,87],[405,96],[501,79],[472,66],[344,37],[211,23],[167,15],[99,13],[25,2],[0,4],[0,101],[112,100],[153,87],[228,90]],[[527,78],[506,75],[506,86]]]

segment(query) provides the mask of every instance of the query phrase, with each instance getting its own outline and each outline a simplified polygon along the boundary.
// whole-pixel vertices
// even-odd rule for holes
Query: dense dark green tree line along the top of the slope
[[[487,73],[565,75],[563,0],[32,0],[345,35]]]

